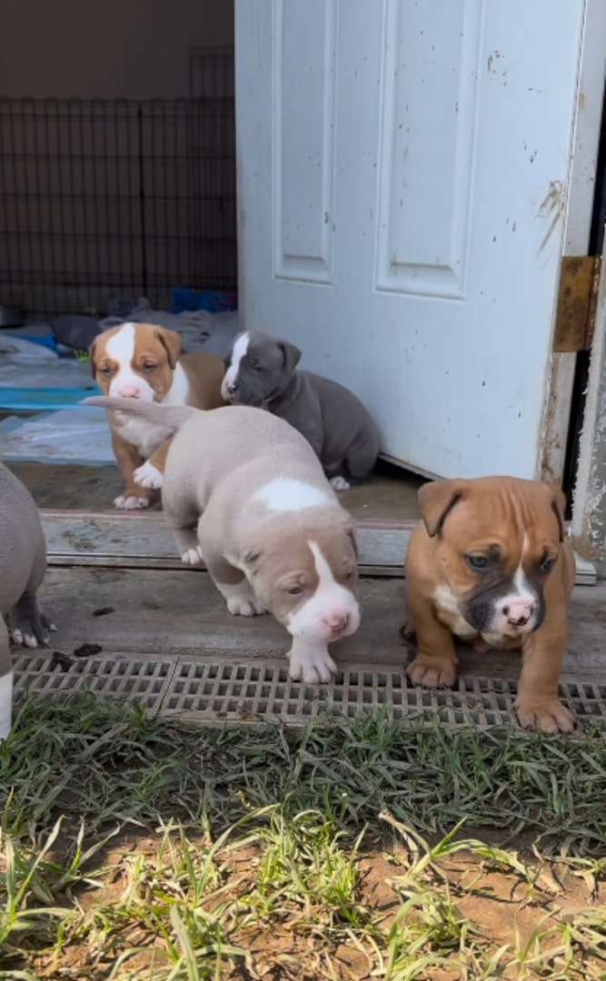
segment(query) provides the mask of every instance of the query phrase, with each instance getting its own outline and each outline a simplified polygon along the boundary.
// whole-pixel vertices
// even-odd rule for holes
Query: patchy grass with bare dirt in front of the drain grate
[[[26,697],[0,788],[0,978],[606,978],[598,732]]]

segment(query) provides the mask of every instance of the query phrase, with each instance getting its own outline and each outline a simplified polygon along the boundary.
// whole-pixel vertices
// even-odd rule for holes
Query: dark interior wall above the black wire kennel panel
[[[0,95],[188,94],[190,47],[233,42],[233,0],[0,0]]]

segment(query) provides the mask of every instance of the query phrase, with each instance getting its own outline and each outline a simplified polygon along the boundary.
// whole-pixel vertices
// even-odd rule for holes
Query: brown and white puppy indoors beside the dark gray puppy
[[[181,354],[176,331],[153,324],[122,324],[95,337],[90,347],[92,377],[108,395],[144,402],[193,405],[214,409],[224,405],[225,372],[217,354]],[[152,447],[138,420],[119,419],[109,411],[112,445],[125,481],[116,507],[148,507],[152,490],[162,487],[169,441]]]

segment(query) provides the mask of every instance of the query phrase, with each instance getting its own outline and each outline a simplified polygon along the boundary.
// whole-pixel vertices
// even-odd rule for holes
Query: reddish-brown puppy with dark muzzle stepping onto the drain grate
[[[522,651],[516,710],[523,726],[570,732],[559,700],[575,559],[564,541],[566,498],[539,481],[482,477],[426,484],[423,520],[406,554],[407,620],[416,685],[452,685],[453,638],[481,652]]]

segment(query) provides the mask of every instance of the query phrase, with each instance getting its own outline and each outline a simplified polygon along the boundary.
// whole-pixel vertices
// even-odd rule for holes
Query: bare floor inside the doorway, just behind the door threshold
[[[112,511],[112,501],[123,490],[117,466],[59,466],[9,463],[38,507],[66,510]],[[379,461],[376,473],[358,487],[344,491],[343,505],[358,519],[410,521],[419,517],[417,490],[423,478]],[[153,505],[158,510],[157,501]]]

